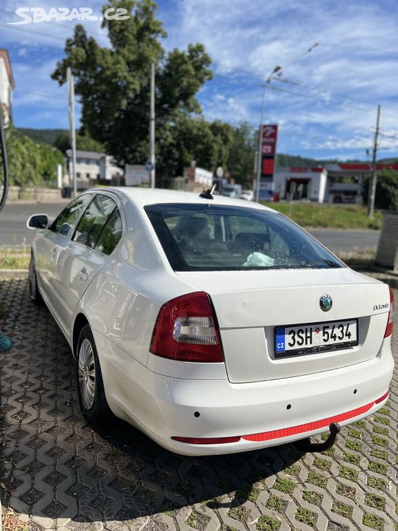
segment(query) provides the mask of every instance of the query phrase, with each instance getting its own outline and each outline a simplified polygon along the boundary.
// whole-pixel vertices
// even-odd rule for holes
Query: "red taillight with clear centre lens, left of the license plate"
[[[223,362],[220,332],[209,295],[171,299],[160,308],[151,353],[182,362]]]

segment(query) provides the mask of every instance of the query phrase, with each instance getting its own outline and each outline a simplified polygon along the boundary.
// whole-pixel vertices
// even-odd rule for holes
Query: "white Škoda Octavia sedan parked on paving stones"
[[[91,189],[39,229],[30,297],[108,409],[177,454],[280,445],[370,415],[392,378],[392,292],[256,203]]]

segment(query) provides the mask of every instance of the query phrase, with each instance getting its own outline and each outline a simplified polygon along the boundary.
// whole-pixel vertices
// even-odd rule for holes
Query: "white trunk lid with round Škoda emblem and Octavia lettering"
[[[328,371],[375,357],[383,341],[389,308],[385,284],[349,268],[178,272],[192,286],[209,293],[220,326],[228,378],[254,382]],[[321,309],[328,295],[332,307]],[[356,323],[358,328],[356,328]],[[276,352],[276,328],[307,325],[314,330],[343,325],[351,337],[345,346],[322,351]],[[318,326],[320,325],[320,326]],[[340,329],[341,330],[341,329]],[[357,330],[357,337],[354,337]],[[339,332],[341,333],[341,332]],[[290,337],[290,336],[289,336]],[[352,341],[357,339],[357,342]]]

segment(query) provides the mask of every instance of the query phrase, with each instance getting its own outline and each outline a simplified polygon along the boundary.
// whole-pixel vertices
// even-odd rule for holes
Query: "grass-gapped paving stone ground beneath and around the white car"
[[[398,530],[397,368],[386,407],[323,454],[186,458],[122,421],[86,424],[69,348],[25,278],[0,280],[1,308],[2,501],[30,530]]]

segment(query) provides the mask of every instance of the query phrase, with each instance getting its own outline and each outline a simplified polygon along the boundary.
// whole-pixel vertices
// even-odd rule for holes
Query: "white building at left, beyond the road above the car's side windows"
[[[72,149],[66,150],[66,168],[70,187],[73,187]],[[123,170],[118,168],[112,157],[96,151],[76,151],[77,189],[84,190],[99,184],[120,185]]]

